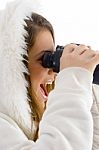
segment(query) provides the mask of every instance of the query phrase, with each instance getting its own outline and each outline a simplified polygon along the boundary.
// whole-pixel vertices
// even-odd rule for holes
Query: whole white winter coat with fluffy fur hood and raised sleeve
[[[78,67],[58,74],[40,123],[39,139],[32,141],[36,127],[31,131],[28,84],[23,74],[27,69],[22,63],[22,55],[27,55],[24,19],[32,12],[39,12],[35,0],[11,2],[0,12],[0,150],[92,150],[92,144],[93,150],[99,150],[98,86],[92,95],[93,76]]]

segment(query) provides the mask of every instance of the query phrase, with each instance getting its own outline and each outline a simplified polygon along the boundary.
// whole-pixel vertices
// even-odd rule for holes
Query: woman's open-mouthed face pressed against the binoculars
[[[54,42],[48,30],[42,30],[37,34],[34,46],[29,52],[29,71],[32,91],[37,97],[45,102],[48,99],[46,84],[54,80],[52,69],[44,68],[41,57],[46,51],[54,51]]]

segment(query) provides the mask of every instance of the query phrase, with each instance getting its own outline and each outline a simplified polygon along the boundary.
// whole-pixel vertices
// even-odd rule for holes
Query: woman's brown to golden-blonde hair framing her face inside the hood
[[[50,24],[50,22],[48,22],[43,16],[36,13],[32,13],[31,18],[25,19],[25,22],[26,22],[26,26],[24,28],[28,33],[28,36],[25,37],[25,42],[27,44],[27,53],[33,47],[36,40],[36,36],[38,32],[40,32],[42,29],[49,30],[52,35],[53,41],[55,42],[53,27]],[[25,58],[24,64],[28,68],[28,57],[24,56],[24,58]],[[46,104],[45,104],[45,108],[43,108],[37,95],[31,89],[30,76],[25,74],[25,78],[28,81],[27,94],[28,94],[28,102],[31,108],[31,120],[36,122],[36,126],[37,126],[37,131],[33,139],[34,141],[36,141],[36,139],[38,138],[39,122],[46,108]],[[52,85],[46,85],[46,89],[48,92],[50,92],[53,88],[54,88],[54,82]]]

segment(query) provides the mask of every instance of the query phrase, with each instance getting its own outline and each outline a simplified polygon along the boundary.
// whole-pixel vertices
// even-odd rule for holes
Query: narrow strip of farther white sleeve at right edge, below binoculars
[[[93,105],[92,105],[92,116],[93,116],[93,150],[99,150],[99,85],[93,85]]]

